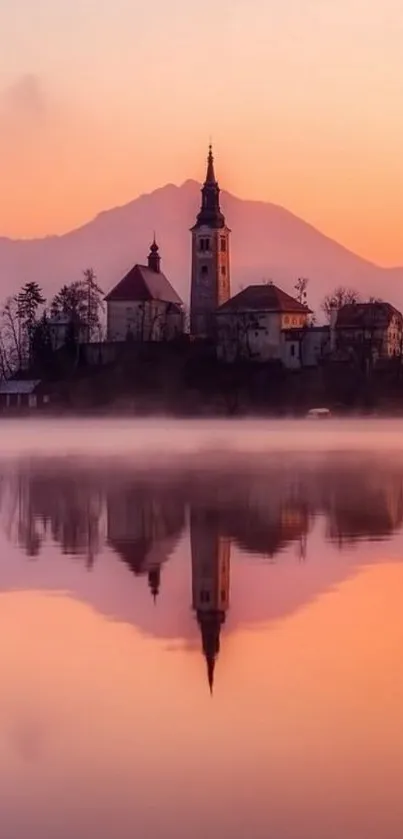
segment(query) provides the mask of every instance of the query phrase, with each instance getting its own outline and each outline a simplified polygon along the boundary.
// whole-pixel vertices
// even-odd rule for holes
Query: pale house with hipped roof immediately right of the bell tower
[[[217,310],[218,358],[224,362],[279,360],[287,367],[298,367],[301,334],[310,314],[308,306],[274,283],[248,286]]]

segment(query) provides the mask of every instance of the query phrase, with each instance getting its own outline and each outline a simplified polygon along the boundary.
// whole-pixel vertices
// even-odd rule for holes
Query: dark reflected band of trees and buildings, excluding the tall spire
[[[293,544],[303,554],[315,517],[325,520],[327,537],[340,546],[387,538],[403,521],[403,467],[375,457],[277,458],[148,476],[107,464],[49,463],[3,469],[1,520],[9,538],[30,556],[53,540],[91,565],[106,526],[108,544],[134,574],[149,576],[154,595],[187,503],[193,516],[199,511],[206,520],[206,531],[214,519],[224,539],[268,557]]]

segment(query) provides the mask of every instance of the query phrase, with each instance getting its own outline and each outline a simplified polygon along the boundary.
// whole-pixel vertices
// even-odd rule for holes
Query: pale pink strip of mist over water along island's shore
[[[1,424],[0,457],[161,458],[275,452],[403,451],[403,420],[22,419]]]

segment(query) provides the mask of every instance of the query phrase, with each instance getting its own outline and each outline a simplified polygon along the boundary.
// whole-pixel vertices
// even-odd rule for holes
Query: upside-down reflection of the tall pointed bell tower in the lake
[[[229,607],[230,585],[231,546],[228,539],[219,535],[217,525],[213,512],[191,511],[193,609],[200,627],[211,692],[220,651],[221,626]]]

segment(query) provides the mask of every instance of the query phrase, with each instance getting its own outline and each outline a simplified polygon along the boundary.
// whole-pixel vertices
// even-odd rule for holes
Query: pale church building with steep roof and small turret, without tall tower
[[[170,341],[183,332],[183,303],[161,271],[154,239],[147,265],[134,265],[105,298],[108,341]]]

